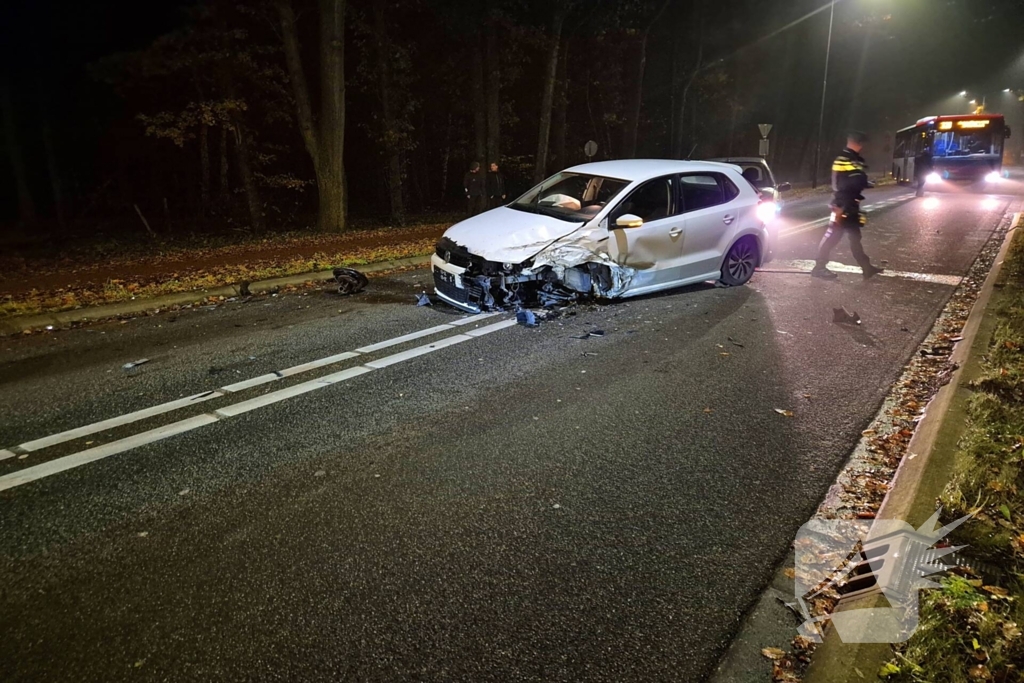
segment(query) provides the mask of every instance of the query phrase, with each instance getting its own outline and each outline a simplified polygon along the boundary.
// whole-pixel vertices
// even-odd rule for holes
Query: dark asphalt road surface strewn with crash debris
[[[746,287],[532,330],[416,271],[0,339],[0,680],[701,680],[1019,188],[874,190],[866,283],[814,196]]]

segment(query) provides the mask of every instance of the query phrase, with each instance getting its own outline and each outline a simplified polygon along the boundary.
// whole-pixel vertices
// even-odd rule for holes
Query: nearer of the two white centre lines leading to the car
[[[495,313],[495,315],[500,313]],[[487,314],[490,317],[492,314]],[[477,318],[478,319],[478,318]],[[421,355],[426,355],[427,353],[433,353],[442,348],[447,348],[449,346],[454,346],[455,344],[461,344],[463,342],[472,341],[479,337],[498,332],[500,330],[505,330],[507,328],[513,327],[516,324],[515,319],[503,321],[502,323],[496,323],[495,325],[488,325],[484,328],[478,330],[471,330],[464,335],[455,335],[452,337],[446,337],[440,341],[433,344],[426,344],[424,346],[419,346],[414,349],[409,349],[408,351],[402,351],[401,353],[395,353],[378,360],[373,360],[366,364],[365,366],[356,366],[355,368],[348,368],[339,373],[334,373],[333,375],[328,375],[326,377],[321,377],[315,380],[310,380],[308,382],[303,382],[302,384],[297,384],[286,389],[281,389],[280,391],[272,391],[268,394],[262,396],[257,396],[256,398],[251,398],[249,400],[244,400],[231,405],[226,405],[213,413],[207,413],[205,415],[200,415],[195,418],[188,418],[187,420],[181,420],[179,422],[174,422],[163,427],[157,427],[156,429],[151,429],[150,431],[142,432],[140,434],[135,434],[134,436],[129,436],[117,441],[112,441],[110,443],[104,443],[93,449],[88,449],[86,451],[81,451],[79,453],[72,454],[70,456],[65,456],[62,458],[56,458],[47,463],[41,465],[36,465],[34,467],[29,467],[11,474],[6,474],[0,476],[0,492],[6,490],[7,488],[13,488],[14,486],[20,486],[22,484],[36,481],[44,477],[57,474],[59,472],[65,472],[67,470],[86,465],[88,463],[95,462],[97,460],[102,460],[103,458],[109,458],[111,456],[136,449],[140,445],[145,445],[147,443],[153,443],[155,441],[160,441],[171,436],[176,436],[193,429],[198,429],[200,427],[205,427],[206,425],[211,425],[220,420],[232,418],[250,411],[255,411],[259,408],[265,405],[271,405],[273,403],[292,398],[294,396],[299,396],[304,393],[309,393],[310,391],[315,391],[316,389],[323,389],[324,387],[332,386],[338,384],[339,382],[344,382],[350,380],[354,377],[359,377],[360,375],[366,375],[372,373],[375,370],[382,368],[387,368],[393,366],[403,360],[409,360],[410,358],[415,358]],[[464,324],[465,325],[465,324]],[[442,326],[450,327],[450,326]],[[357,355],[353,353],[353,356]],[[314,361],[316,362],[316,361]],[[307,364],[308,365],[308,364]],[[211,394],[218,392],[210,392]],[[200,394],[205,396],[205,394]],[[211,396],[212,397],[212,396]],[[184,399],[182,399],[184,400]],[[177,401],[173,401],[177,402]],[[171,403],[164,403],[164,405],[154,407],[154,409],[147,409],[150,411],[157,408],[165,408]],[[141,413],[142,411],[140,411]],[[163,411],[167,412],[167,411]],[[157,414],[159,415],[159,413]],[[128,417],[128,416],[124,416]],[[123,420],[123,418],[115,418],[115,420]],[[112,422],[112,421],[108,421]],[[96,423],[99,425],[102,423]],[[90,425],[94,427],[96,425]],[[88,427],[82,427],[81,429],[87,429]],[[66,432],[70,433],[70,432]],[[91,433],[91,432],[90,432]],[[48,437],[52,438],[52,437]],[[41,439],[42,440],[42,439]],[[24,447],[24,446],[23,446]],[[7,451],[0,453],[9,453]],[[13,453],[10,457],[13,457]],[[3,458],[0,458],[2,460]]]

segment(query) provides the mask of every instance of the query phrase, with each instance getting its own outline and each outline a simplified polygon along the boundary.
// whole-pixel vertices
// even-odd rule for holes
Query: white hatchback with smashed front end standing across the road
[[[739,286],[771,257],[773,209],[728,164],[585,164],[449,228],[431,257],[434,291],[480,312]]]

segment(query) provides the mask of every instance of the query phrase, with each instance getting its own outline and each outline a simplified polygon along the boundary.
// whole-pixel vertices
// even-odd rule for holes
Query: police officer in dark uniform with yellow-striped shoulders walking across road
[[[817,262],[811,270],[815,278],[836,280],[839,276],[825,266],[831,250],[843,240],[844,234],[850,238],[850,251],[863,270],[864,280],[873,278],[885,269],[871,265],[871,260],[860,244],[860,228],[867,222],[860,212],[860,202],[864,199],[862,193],[874,186],[867,179],[867,165],[860,156],[866,141],[864,133],[851,132],[847,136],[846,148],[833,163],[833,189],[836,191],[831,203],[833,216],[828,230],[818,246]]]

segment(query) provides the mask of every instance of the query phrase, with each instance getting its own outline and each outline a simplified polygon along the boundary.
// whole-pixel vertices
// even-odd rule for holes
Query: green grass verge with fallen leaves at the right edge
[[[882,678],[900,683],[1024,682],[1024,231],[988,314],[996,327],[972,383],[968,427],[940,497],[972,566],[923,596],[921,626]]]

